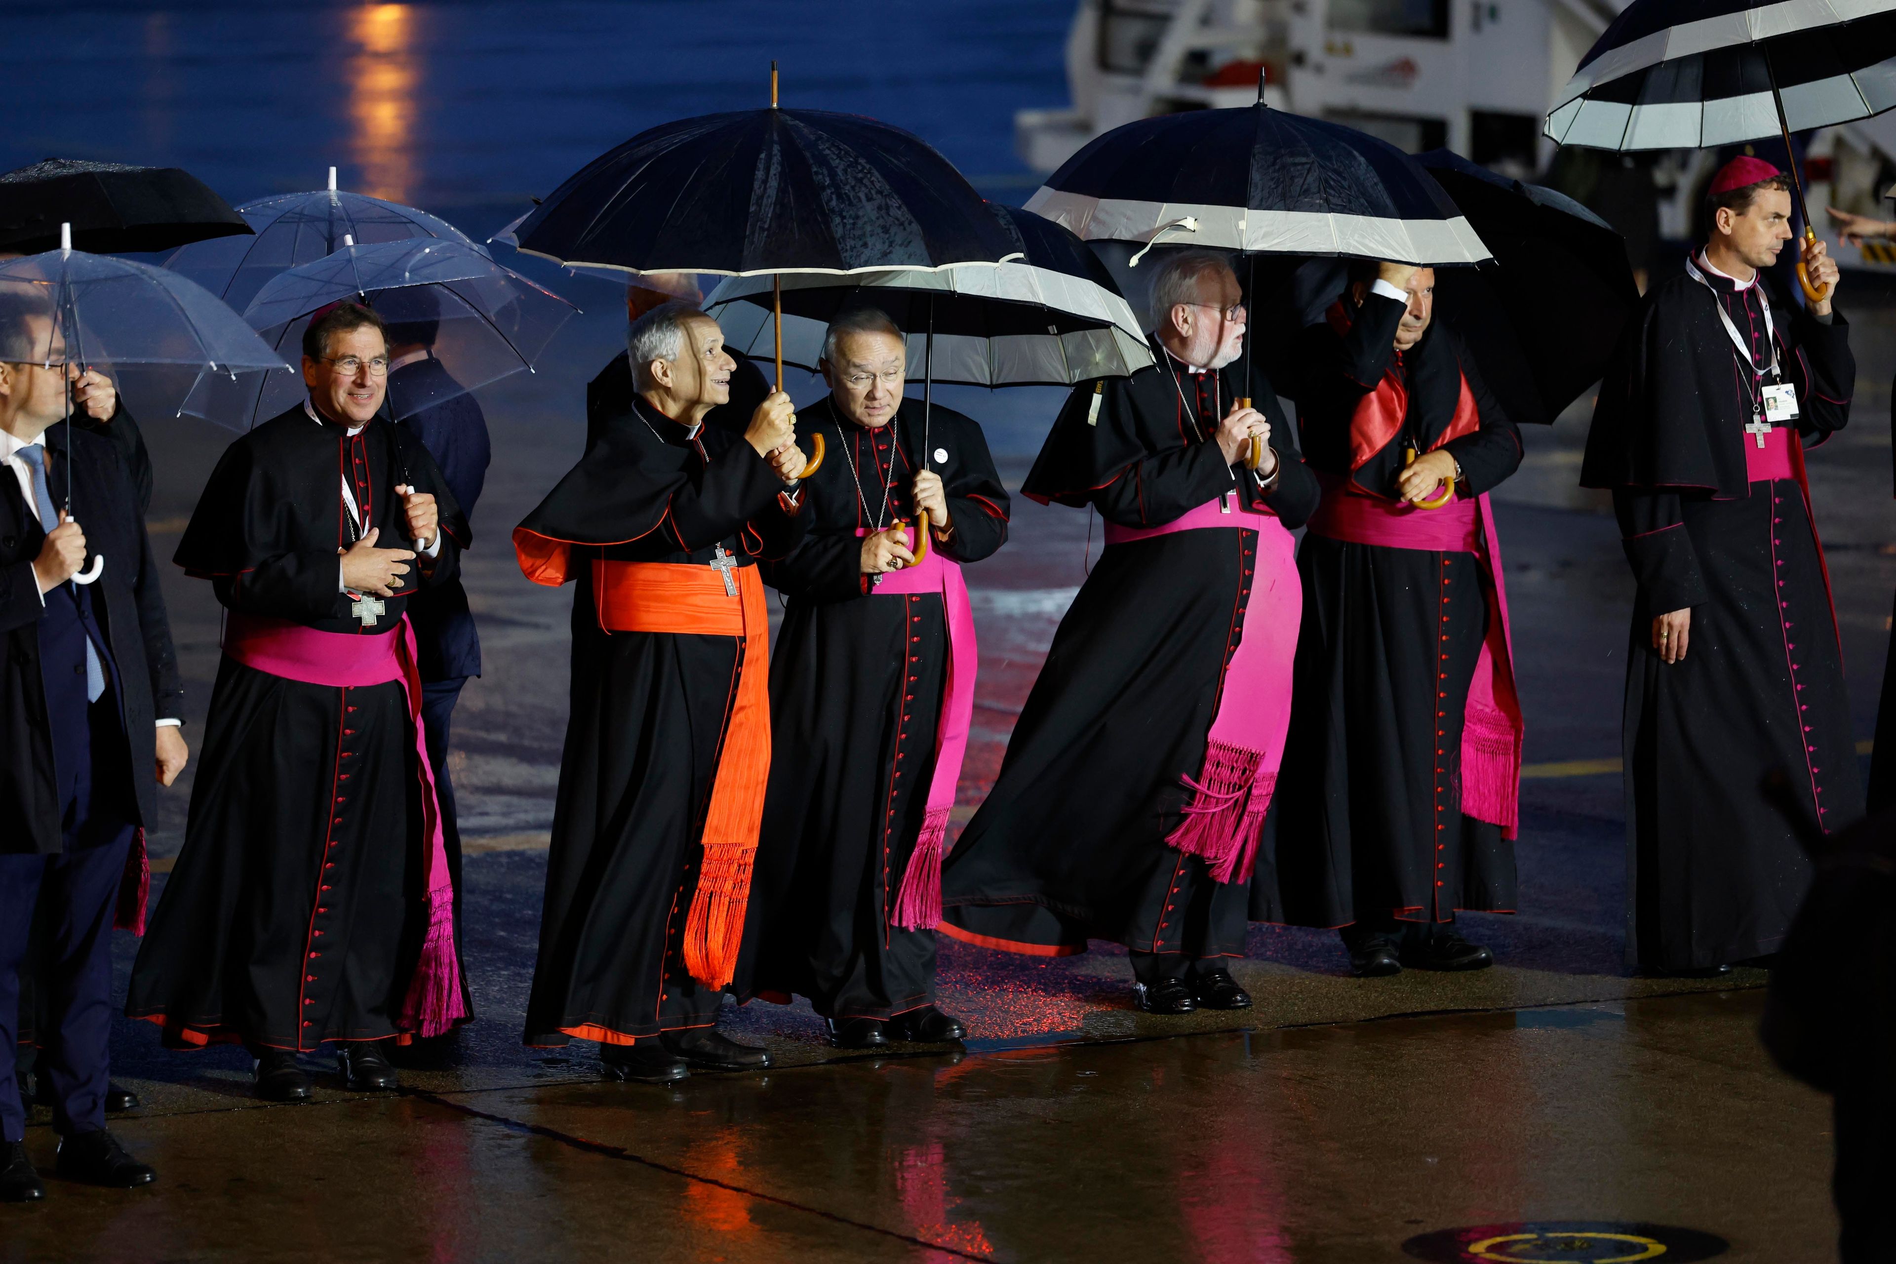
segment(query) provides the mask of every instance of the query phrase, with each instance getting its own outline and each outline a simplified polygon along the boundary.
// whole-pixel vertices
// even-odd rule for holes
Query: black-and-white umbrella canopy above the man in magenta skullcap
[[[1560,89],[1547,135],[1596,150],[1714,148],[1896,106],[1890,0],[1634,0]]]

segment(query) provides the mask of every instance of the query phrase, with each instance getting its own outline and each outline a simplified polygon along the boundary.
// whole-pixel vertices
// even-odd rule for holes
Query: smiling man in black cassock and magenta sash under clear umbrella
[[[127,1012],[174,1048],[243,1040],[273,1101],[309,1097],[298,1054],[324,1042],[351,1088],[392,1090],[383,1042],[465,1018],[404,610],[468,529],[428,451],[377,421],[387,373],[375,313],[311,320],[309,400],[226,449],[176,553],[229,614]]]

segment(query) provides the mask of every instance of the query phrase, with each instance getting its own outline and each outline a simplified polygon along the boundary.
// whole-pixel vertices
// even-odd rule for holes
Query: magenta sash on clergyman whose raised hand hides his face
[[[1488,637],[1475,659],[1462,707],[1462,811],[1502,826],[1504,838],[1521,828],[1521,743],[1526,726],[1515,692],[1513,635],[1507,625],[1507,580],[1502,538],[1486,493],[1422,510],[1407,500],[1373,497],[1348,479],[1316,472],[1323,502],[1310,533],[1350,544],[1473,553],[1488,601]]]

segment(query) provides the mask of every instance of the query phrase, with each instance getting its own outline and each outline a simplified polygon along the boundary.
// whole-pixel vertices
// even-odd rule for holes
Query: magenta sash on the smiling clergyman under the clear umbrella
[[[428,934],[415,963],[402,1002],[402,1025],[410,1033],[438,1037],[466,1018],[461,1001],[461,959],[455,953],[455,889],[447,874],[447,840],[442,834],[434,766],[421,726],[421,675],[415,671],[415,631],[402,616],[400,627],[383,635],[326,633],[288,620],[231,612],[224,629],[224,652],[250,667],[284,680],[328,688],[402,684],[408,716],[415,726],[415,758],[421,777],[423,847],[428,866]]]

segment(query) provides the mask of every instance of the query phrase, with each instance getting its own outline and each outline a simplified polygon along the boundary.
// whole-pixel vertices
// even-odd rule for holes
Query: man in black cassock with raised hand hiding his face
[[[1433,269],[1358,263],[1295,354],[1323,502],[1253,917],[1342,927],[1359,976],[1488,966],[1454,913],[1515,908],[1521,709],[1483,497],[1521,434],[1433,303]]]

